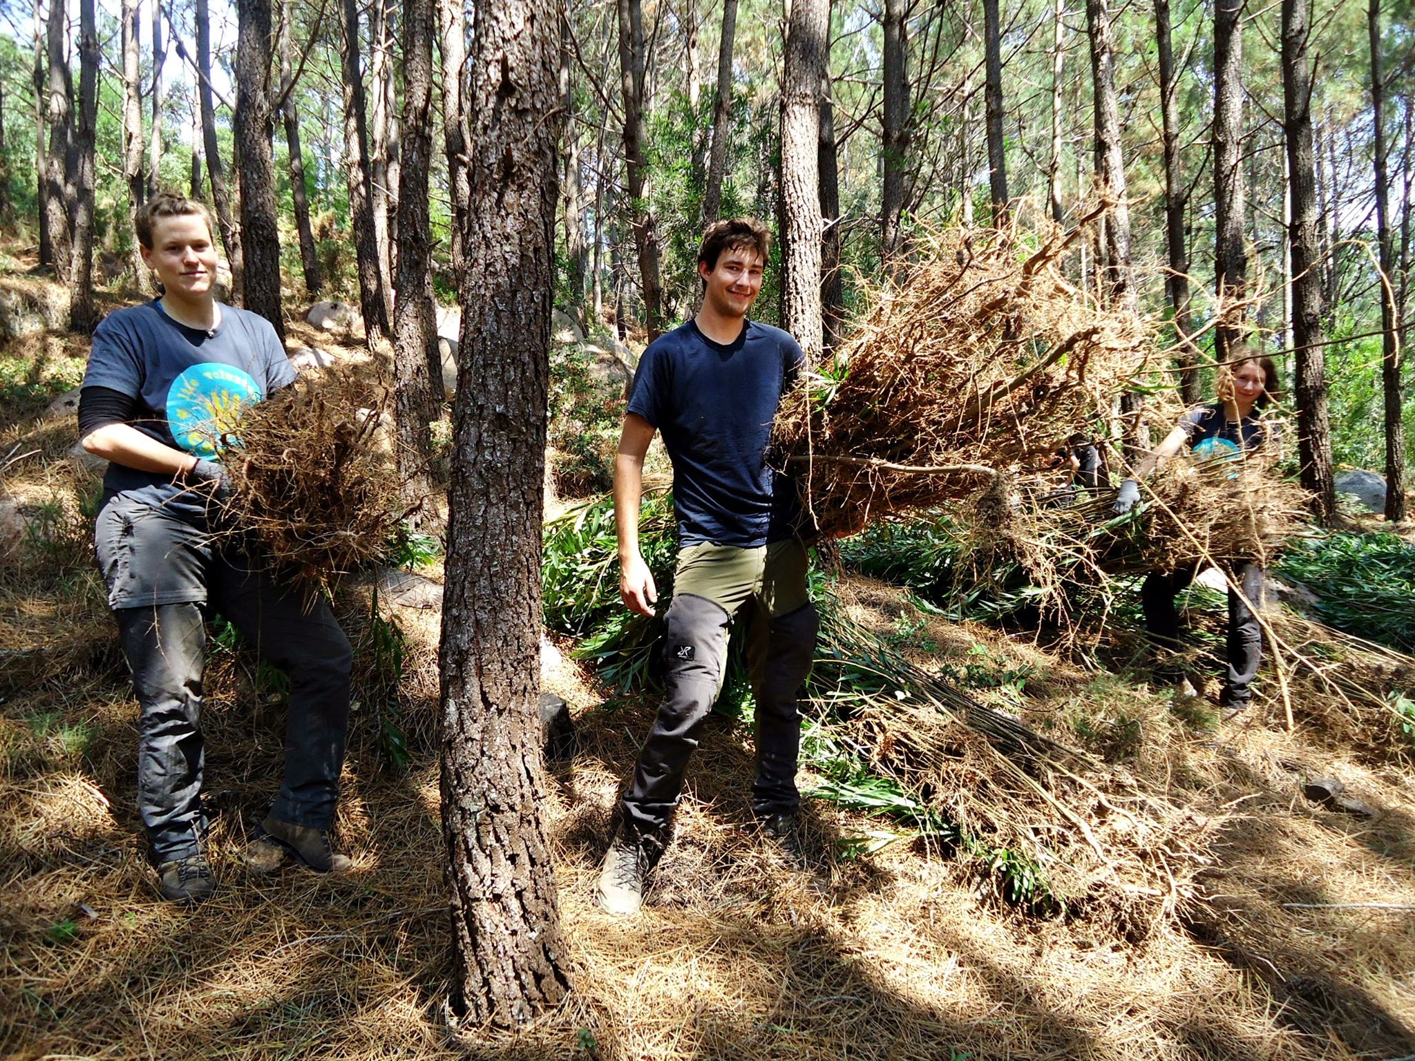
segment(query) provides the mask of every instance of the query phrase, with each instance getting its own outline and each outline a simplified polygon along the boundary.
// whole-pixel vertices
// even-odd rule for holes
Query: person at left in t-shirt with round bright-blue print
[[[200,202],[158,192],[137,214],[137,240],[161,296],[93,332],[79,436],[109,461],[93,539],[140,707],[149,854],[158,891],[195,903],[215,887],[198,726],[208,611],[290,678],[284,778],[246,849],[252,869],[273,870],[287,854],[317,871],[350,867],[330,850],[328,828],[352,652],[323,600],[306,610],[300,589],[252,563],[238,538],[212,536],[226,489],[221,458],[239,443],[242,410],[294,381],[275,328],[216,301],[216,248]]]

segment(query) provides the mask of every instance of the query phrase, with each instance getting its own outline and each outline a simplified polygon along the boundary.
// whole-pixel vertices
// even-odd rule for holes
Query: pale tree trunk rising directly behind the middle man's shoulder
[[[785,218],[781,324],[801,344],[811,365],[819,364],[824,351],[816,151],[829,16],[829,0],[792,0],[781,85],[781,212]]]

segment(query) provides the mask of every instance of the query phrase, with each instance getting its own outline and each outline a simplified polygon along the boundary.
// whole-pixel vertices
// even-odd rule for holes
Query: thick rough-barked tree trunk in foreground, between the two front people
[[[555,289],[559,10],[477,4],[441,635],[451,1009],[522,1023],[570,990],[539,805],[541,482]],[[406,168],[406,167],[405,167]]]

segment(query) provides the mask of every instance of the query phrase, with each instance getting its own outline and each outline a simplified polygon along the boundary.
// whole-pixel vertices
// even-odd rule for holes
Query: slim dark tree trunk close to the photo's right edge
[[[1293,3],[1295,0],[1288,0]],[[1283,4],[1286,11],[1286,4]],[[1381,262],[1381,386],[1385,396],[1385,519],[1405,519],[1405,429],[1401,389],[1401,306],[1395,298],[1395,242],[1391,235],[1391,178],[1385,144],[1385,75],[1381,57],[1381,0],[1370,0],[1371,124],[1375,133],[1375,242]],[[1409,209],[1409,204],[1405,207]]]

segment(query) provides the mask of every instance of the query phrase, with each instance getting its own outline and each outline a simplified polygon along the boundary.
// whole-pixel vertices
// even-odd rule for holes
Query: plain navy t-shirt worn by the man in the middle
[[[688,321],[644,351],[628,412],[664,436],[674,463],[679,545],[750,549],[768,540],[773,472],[767,443],[781,395],[804,364],[794,338],[750,320],[726,345]],[[780,533],[788,535],[788,529]]]

